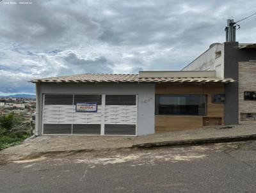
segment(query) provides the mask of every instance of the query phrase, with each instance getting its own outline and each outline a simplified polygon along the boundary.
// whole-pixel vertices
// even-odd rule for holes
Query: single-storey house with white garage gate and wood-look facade
[[[233,79],[209,72],[82,74],[36,84],[36,135],[143,135],[223,125]]]

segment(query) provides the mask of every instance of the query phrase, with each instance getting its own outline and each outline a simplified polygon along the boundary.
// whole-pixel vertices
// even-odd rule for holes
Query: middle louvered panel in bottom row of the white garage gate
[[[73,124],[73,134],[100,135],[100,124]]]

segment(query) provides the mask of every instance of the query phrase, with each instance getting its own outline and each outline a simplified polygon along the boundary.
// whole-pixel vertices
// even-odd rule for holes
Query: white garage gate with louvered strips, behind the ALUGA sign
[[[97,104],[76,112],[76,104]],[[138,95],[44,94],[42,134],[137,135]]]

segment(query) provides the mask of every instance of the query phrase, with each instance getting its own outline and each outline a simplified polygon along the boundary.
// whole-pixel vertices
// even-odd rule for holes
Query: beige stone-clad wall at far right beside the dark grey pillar
[[[239,62],[239,120],[241,113],[256,113],[256,101],[244,100],[244,91],[256,91],[256,62]]]

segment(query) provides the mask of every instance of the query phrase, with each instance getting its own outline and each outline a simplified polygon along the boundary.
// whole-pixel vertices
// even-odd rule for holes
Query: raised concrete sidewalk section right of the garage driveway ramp
[[[137,137],[133,146],[150,147],[159,145],[182,145],[182,144],[207,144],[214,141],[220,143],[230,142],[237,138],[248,140],[256,139],[256,121],[244,121],[241,125],[204,127],[196,130],[184,130],[179,132],[169,132],[163,134],[152,134]],[[236,141],[236,140],[235,140]],[[150,145],[152,144],[152,145]]]

